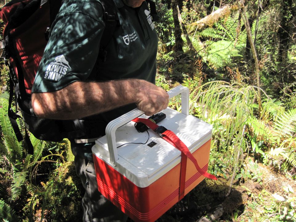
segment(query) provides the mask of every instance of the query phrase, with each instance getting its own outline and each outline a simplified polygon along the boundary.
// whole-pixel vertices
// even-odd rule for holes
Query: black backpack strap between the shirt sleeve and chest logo
[[[105,62],[107,55],[106,47],[112,39],[115,30],[120,26],[120,22],[117,15],[117,7],[113,0],[102,0],[101,5],[104,10],[105,29],[101,38],[98,57]]]

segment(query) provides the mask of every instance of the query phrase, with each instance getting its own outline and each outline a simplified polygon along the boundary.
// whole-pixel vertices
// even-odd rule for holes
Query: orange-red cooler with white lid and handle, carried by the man
[[[212,126],[189,115],[189,90],[178,86],[168,92],[170,98],[181,94],[182,113],[167,108],[160,121],[188,147],[202,170],[208,170]],[[142,115],[142,116],[141,116]],[[134,221],[155,221],[179,201],[181,152],[149,129],[139,133],[133,120],[147,118],[134,109],[111,121],[106,135],[92,147],[99,191]],[[126,144],[125,143],[145,143]],[[121,146],[117,148],[118,146]],[[205,177],[187,160],[186,195]],[[182,196],[183,197],[183,196]]]

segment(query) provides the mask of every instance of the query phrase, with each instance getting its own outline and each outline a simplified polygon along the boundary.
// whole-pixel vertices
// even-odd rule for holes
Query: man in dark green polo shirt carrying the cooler
[[[96,137],[134,107],[150,116],[168,105],[167,92],[154,85],[158,38],[145,0],[114,0],[121,25],[107,46],[106,61],[97,60],[105,28],[100,1],[64,0],[32,88],[38,117],[91,121]],[[127,216],[98,192],[93,141],[78,139],[70,142],[86,189],[83,220],[125,221]]]

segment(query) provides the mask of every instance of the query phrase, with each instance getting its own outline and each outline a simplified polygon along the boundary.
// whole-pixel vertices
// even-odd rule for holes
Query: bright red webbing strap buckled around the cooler
[[[134,120],[132,120],[136,123],[138,122],[142,122],[145,125],[147,125],[151,130],[155,131],[158,128],[158,125],[155,124],[154,122],[152,122],[149,119],[143,119],[143,118],[135,118]],[[208,172],[202,170],[196,159],[194,158],[194,156],[191,154],[191,152],[188,150],[188,147],[176,136],[176,134],[174,132],[172,132],[171,130],[166,130],[162,133],[162,138],[164,140],[166,140],[167,142],[169,142],[171,145],[173,145],[174,147],[176,147],[178,150],[181,151],[181,172],[180,172],[180,191],[179,191],[179,200],[181,200],[184,197],[184,192],[185,192],[185,175],[186,175],[186,164],[187,164],[187,158],[188,157],[193,164],[195,165],[195,168],[197,169],[197,171],[210,179],[214,179],[217,180],[217,178],[212,175],[209,174]]]

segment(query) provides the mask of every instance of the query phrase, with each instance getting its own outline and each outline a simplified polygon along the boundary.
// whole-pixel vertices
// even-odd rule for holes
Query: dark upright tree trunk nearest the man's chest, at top
[[[174,19],[174,36],[175,36],[175,52],[184,52],[183,51],[183,39],[181,38],[182,30],[180,27],[180,22],[178,18],[178,1],[172,0],[172,10],[173,10],[173,19]]]

